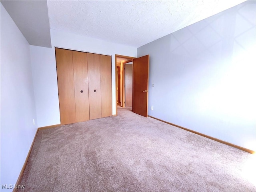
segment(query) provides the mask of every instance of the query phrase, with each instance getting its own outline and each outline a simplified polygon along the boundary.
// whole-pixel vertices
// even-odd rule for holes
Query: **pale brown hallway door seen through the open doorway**
[[[125,107],[132,106],[132,64],[125,64]]]

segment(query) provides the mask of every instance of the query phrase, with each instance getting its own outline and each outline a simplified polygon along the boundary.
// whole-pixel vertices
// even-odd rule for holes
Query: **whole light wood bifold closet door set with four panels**
[[[111,56],[55,48],[60,123],[112,116]]]

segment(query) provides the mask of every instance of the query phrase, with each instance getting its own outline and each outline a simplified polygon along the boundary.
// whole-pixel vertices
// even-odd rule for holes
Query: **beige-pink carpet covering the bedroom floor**
[[[40,130],[18,191],[256,191],[254,158],[118,108],[116,117]]]

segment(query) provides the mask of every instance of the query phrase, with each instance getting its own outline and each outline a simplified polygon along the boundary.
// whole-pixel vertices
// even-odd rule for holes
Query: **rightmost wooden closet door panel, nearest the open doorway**
[[[102,117],[112,116],[111,56],[100,55]]]

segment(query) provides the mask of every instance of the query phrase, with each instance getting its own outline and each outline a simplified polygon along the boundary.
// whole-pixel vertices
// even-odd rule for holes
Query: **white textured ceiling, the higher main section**
[[[140,47],[245,0],[48,1],[50,28]]]

